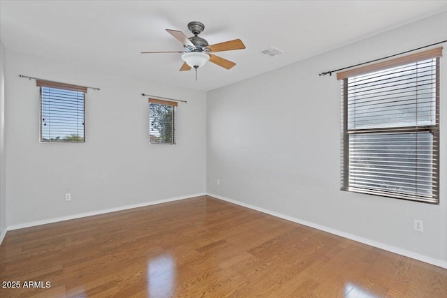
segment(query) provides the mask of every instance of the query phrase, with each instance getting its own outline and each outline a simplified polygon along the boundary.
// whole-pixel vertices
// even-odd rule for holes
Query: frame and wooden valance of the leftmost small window
[[[65,83],[59,83],[59,82],[52,82],[52,81],[46,81],[46,80],[36,80],[36,85],[39,88],[39,142],[41,144],[47,144],[47,143],[85,143],[85,98],[87,95],[87,87],[80,87],[77,85],[71,85],[71,84],[65,84]],[[78,92],[83,94],[82,98],[82,140],[66,140],[66,139],[59,139],[59,140],[45,140],[43,137],[43,88],[49,88],[52,90],[59,89],[64,91],[71,91],[71,92]]]

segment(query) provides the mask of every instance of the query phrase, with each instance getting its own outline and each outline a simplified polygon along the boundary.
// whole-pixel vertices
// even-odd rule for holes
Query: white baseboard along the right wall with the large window
[[[268,209],[263,209],[263,208],[260,208],[260,207],[256,207],[256,206],[251,205],[251,204],[246,204],[246,203],[243,203],[243,202],[240,202],[240,201],[231,200],[231,199],[222,197],[221,195],[215,195],[214,193],[207,193],[207,195],[209,195],[210,197],[213,197],[213,198],[217,198],[219,200],[223,200],[223,201],[226,201],[226,202],[230,202],[230,203],[233,203],[233,204],[240,205],[242,207],[247,207],[249,209],[254,209],[256,211],[260,211],[260,212],[263,212],[265,214],[270,214],[272,216],[283,218],[283,219],[286,219],[287,221],[293,221],[294,223],[299,223],[300,225],[307,225],[310,228],[315,228],[317,230],[322,230],[322,231],[328,232],[330,234],[335,234],[335,235],[340,236],[340,237],[351,239],[353,241],[357,241],[357,242],[360,242],[360,243],[363,243],[363,244],[367,244],[369,246],[374,246],[376,248],[381,248],[381,249],[383,249],[385,251],[390,251],[392,253],[397,253],[398,255],[404,255],[405,257],[408,257],[408,258],[412,258],[412,259],[415,259],[415,260],[419,260],[419,261],[422,261],[422,262],[426,262],[428,264],[432,264],[432,265],[435,265],[435,266],[447,269],[447,262],[444,261],[444,260],[437,260],[437,259],[434,259],[434,258],[429,258],[429,257],[427,257],[425,255],[420,255],[418,253],[413,253],[411,251],[406,251],[406,250],[404,250],[402,248],[397,248],[395,246],[389,246],[387,244],[383,244],[383,243],[378,242],[378,241],[374,241],[374,240],[371,240],[371,239],[359,237],[359,236],[356,236],[354,234],[349,234],[349,233],[346,233],[346,232],[342,232],[340,230],[335,230],[335,229],[332,229],[332,228],[328,228],[328,227],[325,227],[324,225],[318,225],[316,223],[311,223],[309,221],[303,221],[301,219],[294,218],[292,216],[287,216],[287,215],[280,214],[280,213],[277,213],[277,212],[274,212],[274,211],[270,211]]]

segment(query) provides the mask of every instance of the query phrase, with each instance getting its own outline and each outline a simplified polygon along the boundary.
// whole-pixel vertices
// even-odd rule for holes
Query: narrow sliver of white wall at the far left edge
[[[0,243],[6,234],[5,52],[0,40]]]

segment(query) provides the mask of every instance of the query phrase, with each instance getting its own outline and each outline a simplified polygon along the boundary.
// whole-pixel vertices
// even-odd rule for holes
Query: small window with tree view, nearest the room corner
[[[175,144],[175,107],[177,103],[149,98],[149,142]]]

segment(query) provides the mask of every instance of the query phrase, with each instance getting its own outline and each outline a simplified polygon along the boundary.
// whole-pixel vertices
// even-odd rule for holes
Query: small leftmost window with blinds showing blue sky
[[[41,142],[85,142],[87,88],[36,82],[41,87]]]

